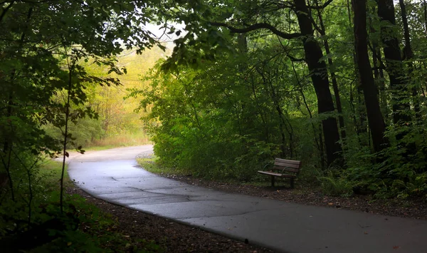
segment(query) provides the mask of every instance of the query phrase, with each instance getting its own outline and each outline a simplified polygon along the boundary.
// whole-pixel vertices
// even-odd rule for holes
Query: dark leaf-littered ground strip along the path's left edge
[[[158,244],[161,247],[159,252],[273,252],[270,249],[105,202],[90,196],[75,185],[68,187],[67,193],[80,195],[89,204],[111,215],[113,220],[117,220],[117,232],[130,237],[131,241],[145,239]]]

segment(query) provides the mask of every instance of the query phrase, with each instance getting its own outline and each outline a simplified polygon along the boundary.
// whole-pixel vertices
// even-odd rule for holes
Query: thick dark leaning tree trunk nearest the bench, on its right
[[[309,16],[309,10],[305,0],[294,0],[295,14],[304,43],[305,61],[311,73],[311,79],[317,95],[317,110],[321,113],[333,113],[334,102],[329,87],[327,77],[327,67],[325,61],[322,61],[323,53],[319,43],[313,38],[312,22]],[[339,160],[342,165],[342,148],[339,144],[339,133],[337,119],[328,115],[328,118],[322,120],[323,134],[325,136],[325,148],[327,155],[327,164]]]

